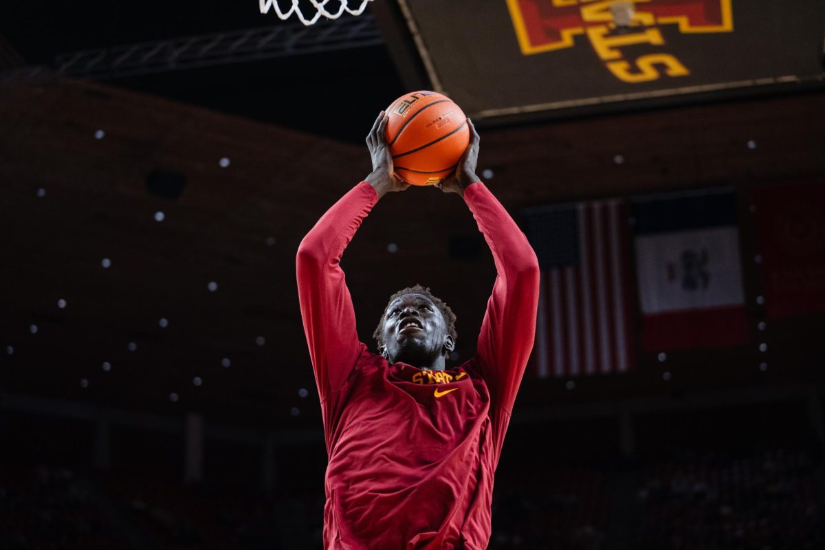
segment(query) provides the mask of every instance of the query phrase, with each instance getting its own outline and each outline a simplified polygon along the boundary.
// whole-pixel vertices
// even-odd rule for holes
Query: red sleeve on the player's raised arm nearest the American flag
[[[533,349],[539,262],[525,234],[482,182],[467,186],[464,201],[493,252],[497,270],[479,332],[479,370],[493,404],[509,414]]]

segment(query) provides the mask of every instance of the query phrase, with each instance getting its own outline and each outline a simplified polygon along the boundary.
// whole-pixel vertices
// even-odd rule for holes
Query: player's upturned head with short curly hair
[[[441,310],[422,294],[404,294],[394,299],[384,312],[384,346],[391,362],[430,366],[452,338]]]

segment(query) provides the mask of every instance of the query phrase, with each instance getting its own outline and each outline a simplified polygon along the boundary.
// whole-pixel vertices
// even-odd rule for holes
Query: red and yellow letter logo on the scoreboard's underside
[[[650,82],[683,77],[690,70],[667,52],[661,27],[685,34],[732,32],[732,0],[507,0],[525,55],[573,48],[589,41],[615,78]],[[625,58],[623,48],[649,45],[653,51]]]

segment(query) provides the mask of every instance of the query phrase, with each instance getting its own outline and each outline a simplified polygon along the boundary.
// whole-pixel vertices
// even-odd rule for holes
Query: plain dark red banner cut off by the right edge
[[[825,312],[825,179],[752,190],[768,317]]]

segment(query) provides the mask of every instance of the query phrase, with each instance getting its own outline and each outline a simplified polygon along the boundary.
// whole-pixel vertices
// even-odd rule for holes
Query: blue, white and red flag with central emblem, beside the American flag
[[[630,212],[643,349],[747,342],[733,191],[638,197]]]

